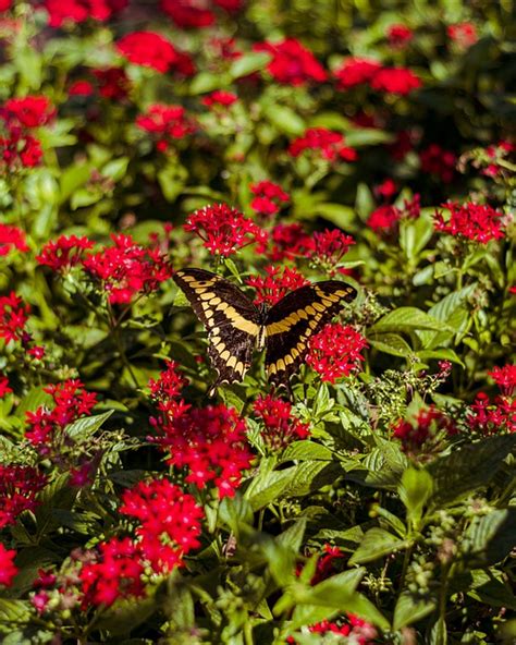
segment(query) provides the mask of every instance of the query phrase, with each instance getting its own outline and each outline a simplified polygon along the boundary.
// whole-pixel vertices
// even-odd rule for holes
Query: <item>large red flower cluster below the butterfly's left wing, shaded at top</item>
[[[167,463],[185,468],[185,480],[205,488],[212,483],[219,498],[233,497],[253,453],[246,424],[236,410],[223,404],[173,411],[151,418],[159,436],[150,440],[169,454]]]

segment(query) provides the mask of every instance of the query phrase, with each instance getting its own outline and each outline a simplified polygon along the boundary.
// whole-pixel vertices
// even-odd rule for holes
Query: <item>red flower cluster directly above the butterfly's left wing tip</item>
[[[254,243],[267,241],[267,232],[228,204],[212,204],[186,219],[184,230],[195,233],[212,255],[228,257]]]

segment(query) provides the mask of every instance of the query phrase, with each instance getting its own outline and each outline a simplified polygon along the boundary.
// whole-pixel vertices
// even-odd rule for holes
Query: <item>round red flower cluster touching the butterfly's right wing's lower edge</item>
[[[367,340],[353,327],[329,324],[311,337],[306,362],[321,380],[334,384],[360,368],[360,352],[367,346]]]

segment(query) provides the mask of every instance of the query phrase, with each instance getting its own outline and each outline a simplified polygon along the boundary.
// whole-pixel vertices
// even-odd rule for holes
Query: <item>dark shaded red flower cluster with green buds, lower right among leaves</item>
[[[443,412],[431,405],[420,410],[409,421],[400,419],[393,427],[393,436],[402,441],[404,452],[418,452],[430,440],[435,440],[443,431],[455,435],[457,428],[453,421]]]

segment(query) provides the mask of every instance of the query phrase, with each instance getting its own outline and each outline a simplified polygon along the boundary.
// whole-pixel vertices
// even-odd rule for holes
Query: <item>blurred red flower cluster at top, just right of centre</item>
[[[269,74],[283,85],[294,87],[310,82],[323,83],[328,75],[315,56],[296,38],[285,38],[279,42],[257,42],[255,51],[266,51],[272,56],[267,65]]]

